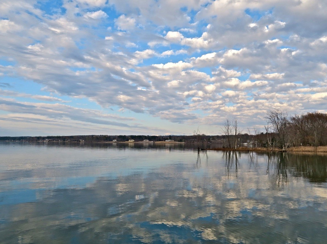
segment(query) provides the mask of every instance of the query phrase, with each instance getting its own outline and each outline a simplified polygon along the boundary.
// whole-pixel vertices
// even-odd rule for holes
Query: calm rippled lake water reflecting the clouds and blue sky
[[[326,243],[327,156],[0,143],[0,243]]]

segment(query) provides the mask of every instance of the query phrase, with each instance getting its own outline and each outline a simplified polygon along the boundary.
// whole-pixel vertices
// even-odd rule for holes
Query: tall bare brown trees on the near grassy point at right
[[[265,132],[254,127],[249,143],[253,147],[280,148],[290,146],[325,146],[327,145],[327,114],[311,112],[289,116],[287,110],[268,110],[265,117]],[[250,129],[248,129],[250,132]],[[227,118],[223,124],[226,136],[225,146],[239,146],[239,129],[237,118]]]

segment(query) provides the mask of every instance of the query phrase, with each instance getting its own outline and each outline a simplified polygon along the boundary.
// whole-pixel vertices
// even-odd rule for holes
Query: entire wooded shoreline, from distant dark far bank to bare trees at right
[[[0,141],[61,141],[61,142],[126,142],[165,141],[220,144],[222,147],[236,149],[248,144],[252,147],[280,148],[290,146],[324,146],[327,145],[327,114],[312,112],[289,116],[286,110],[269,110],[265,116],[264,132],[258,127],[248,128],[243,133],[237,118],[227,118],[223,123],[222,135],[205,135],[198,130],[193,135],[72,135],[72,136],[20,136],[0,137]],[[252,131],[252,133],[251,133]]]

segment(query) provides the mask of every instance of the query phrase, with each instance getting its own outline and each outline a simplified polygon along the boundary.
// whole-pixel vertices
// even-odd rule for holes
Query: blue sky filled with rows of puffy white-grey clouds
[[[325,0],[1,0],[0,136],[207,135],[327,112]]]

